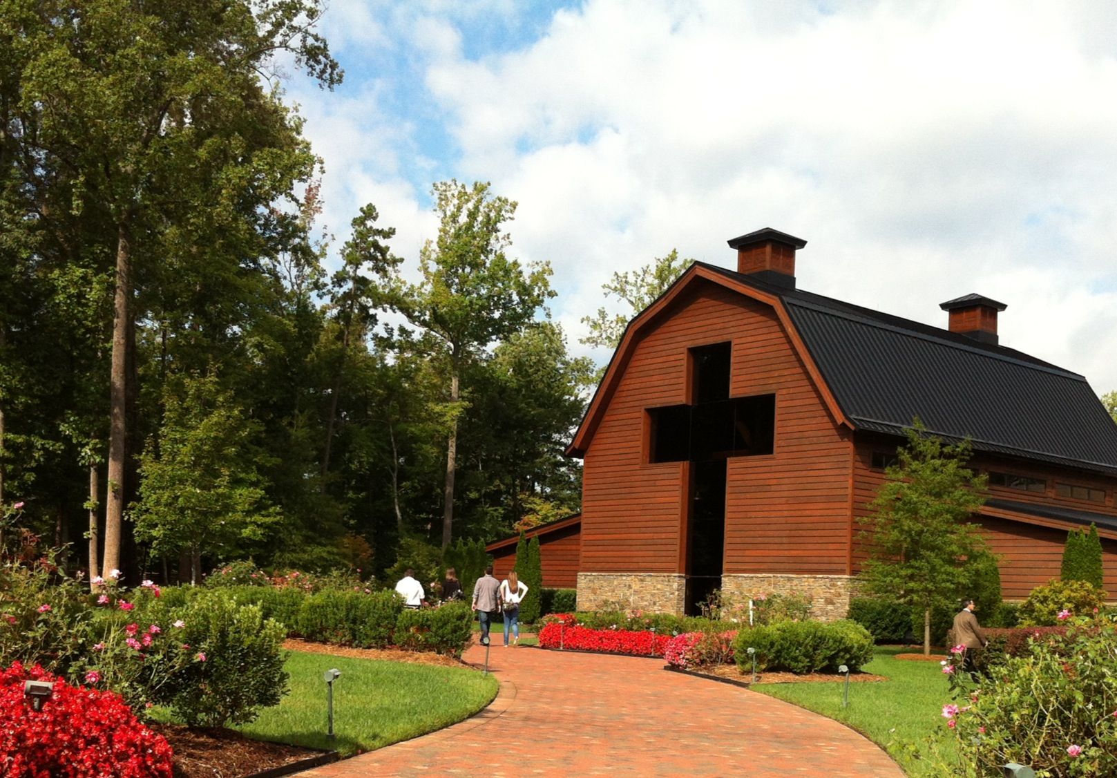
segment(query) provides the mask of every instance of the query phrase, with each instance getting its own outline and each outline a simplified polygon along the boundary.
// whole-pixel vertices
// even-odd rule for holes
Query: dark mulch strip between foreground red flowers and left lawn
[[[174,751],[174,778],[241,778],[322,756],[298,746],[250,740],[227,729],[151,724]]]

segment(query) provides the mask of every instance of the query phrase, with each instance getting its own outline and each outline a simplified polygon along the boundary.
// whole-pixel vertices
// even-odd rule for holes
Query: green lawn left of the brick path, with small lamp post
[[[322,674],[336,667],[335,740],[326,737],[326,684]],[[356,660],[293,652],[286,665],[290,694],[241,732],[260,740],[369,751],[462,721],[496,696],[491,675],[465,667]]]

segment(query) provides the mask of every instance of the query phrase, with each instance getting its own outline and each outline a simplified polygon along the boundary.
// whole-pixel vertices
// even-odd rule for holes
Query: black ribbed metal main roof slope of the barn
[[[977,450],[1117,475],[1117,424],[1078,373],[1014,349],[704,265],[786,306],[858,429],[932,434]]]

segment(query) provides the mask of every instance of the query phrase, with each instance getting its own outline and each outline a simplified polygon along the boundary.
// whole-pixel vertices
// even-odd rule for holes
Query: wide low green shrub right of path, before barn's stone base
[[[760,670],[813,673],[848,665],[857,670],[872,658],[872,635],[850,620],[776,622],[742,629],[733,649],[741,672],[752,671],[747,648],[756,649]],[[747,665],[747,667],[746,667]]]

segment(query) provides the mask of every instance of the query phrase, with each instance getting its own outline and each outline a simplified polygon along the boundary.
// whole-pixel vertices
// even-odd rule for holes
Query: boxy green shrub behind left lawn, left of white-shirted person
[[[300,635],[315,641],[385,648],[402,610],[394,591],[319,591],[303,600],[295,622]]]

